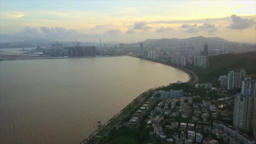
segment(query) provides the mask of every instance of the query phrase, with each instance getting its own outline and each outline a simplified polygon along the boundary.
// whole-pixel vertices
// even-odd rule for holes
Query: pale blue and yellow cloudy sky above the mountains
[[[256,43],[256,0],[0,0],[0,43],[197,36]]]

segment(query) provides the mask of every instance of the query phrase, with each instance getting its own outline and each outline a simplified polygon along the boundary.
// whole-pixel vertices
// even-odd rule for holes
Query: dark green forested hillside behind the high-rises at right
[[[256,52],[210,56],[208,68],[193,68],[193,70],[198,75],[199,82],[214,83],[214,80],[227,74],[230,69],[242,68],[248,75],[256,74]]]

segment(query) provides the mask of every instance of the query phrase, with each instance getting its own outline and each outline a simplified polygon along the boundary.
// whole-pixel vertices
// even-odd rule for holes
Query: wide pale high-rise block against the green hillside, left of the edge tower
[[[235,88],[242,88],[242,80],[244,75],[246,75],[245,70],[229,71],[227,74],[227,89],[233,90]]]

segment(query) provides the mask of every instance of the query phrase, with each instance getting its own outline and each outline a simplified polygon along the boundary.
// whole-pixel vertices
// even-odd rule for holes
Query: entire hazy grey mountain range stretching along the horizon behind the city
[[[1,43],[0,48],[26,48],[26,47],[36,47],[37,45],[40,45],[42,47],[50,46],[52,43],[56,42],[56,40],[48,40],[48,39],[32,39],[32,40],[25,40],[21,42],[10,42],[10,43]],[[62,43],[63,46],[70,46],[75,45],[72,41],[59,41],[59,43]],[[125,47],[128,48],[134,48],[139,47],[138,43],[125,43]],[[233,42],[229,42],[228,40],[224,40],[221,37],[190,37],[190,38],[162,38],[162,39],[147,39],[143,41],[144,47],[160,47],[160,48],[173,48],[173,47],[179,47],[181,44],[186,45],[203,45],[207,43],[211,46],[219,46],[219,45],[225,45],[225,44],[231,44]],[[99,45],[99,43],[92,43],[92,42],[81,42],[81,45]],[[110,43],[109,43],[110,44]],[[117,44],[118,43],[111,43],[111,44]]]

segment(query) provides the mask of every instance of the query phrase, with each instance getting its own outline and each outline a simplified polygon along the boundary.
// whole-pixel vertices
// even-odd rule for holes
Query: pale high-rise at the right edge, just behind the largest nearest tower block
[[[246,96],[256,96],[256,75],[244,76],[241,93]]]

